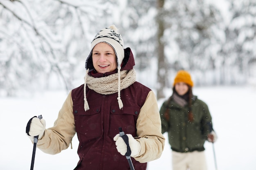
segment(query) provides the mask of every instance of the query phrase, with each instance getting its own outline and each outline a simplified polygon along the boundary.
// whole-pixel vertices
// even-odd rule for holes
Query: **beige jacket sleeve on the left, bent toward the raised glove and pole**
[[[57,154],[69,147],[75,133],[73,101],[70,92],[58,113],[54,126],[45,130],[44,136],[38,140],[37,147],[45,153]]]

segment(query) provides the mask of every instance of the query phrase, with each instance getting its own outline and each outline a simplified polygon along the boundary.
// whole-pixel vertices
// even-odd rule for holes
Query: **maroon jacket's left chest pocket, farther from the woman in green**
[[[78,135],[85,137],[101,136],[101,105],[90,106],[85,112],[83,106],[74,106],[73,114]]]

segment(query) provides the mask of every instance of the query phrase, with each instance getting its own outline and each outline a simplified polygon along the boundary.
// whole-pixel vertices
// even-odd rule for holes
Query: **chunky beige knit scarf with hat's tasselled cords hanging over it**
[[[120,84],[119,84],[119,75],[120,75]],[[107,77],[95,78],[88,74],[85,75],[85,87],[86,84],[88,88],[94,90],[95,92],[102,95],[109,95],[113,93],[118,93],[118,104],[119,108],[123,108],[123,104],[120,97],[120,91],[129,87],[136,81],[135,70],[130,71],[124,70],[119,73],[109,75]],[[86,92],[84,88],[84,99],[85,99],[85,111],[89,110],[88,102],[86,99]]]

